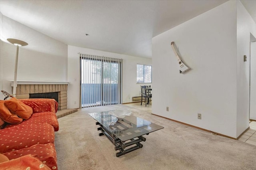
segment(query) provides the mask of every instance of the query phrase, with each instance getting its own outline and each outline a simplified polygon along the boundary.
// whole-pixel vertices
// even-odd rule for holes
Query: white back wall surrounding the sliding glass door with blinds
[[[122,55],[118,53],[110,53],[106,51],[98,51],[68,45],[68,108],[79,107],[79,55],[78,53],[99,55],[112,58],[123,59],[123,76],[122,76],[122,103],[132,102],[132,97],[140,96],[140,85],[136,83],[137,64],[152,64],[152,59],[133,57],[130,55]],[[75,81],[76,80],[76,81]],[[76,104],[74,104],[76,101]]]

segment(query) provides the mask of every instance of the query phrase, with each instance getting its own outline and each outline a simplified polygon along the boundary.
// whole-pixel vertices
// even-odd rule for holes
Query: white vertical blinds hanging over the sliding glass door
[[[79,55],[81,107],[120,104],[122,59]]]

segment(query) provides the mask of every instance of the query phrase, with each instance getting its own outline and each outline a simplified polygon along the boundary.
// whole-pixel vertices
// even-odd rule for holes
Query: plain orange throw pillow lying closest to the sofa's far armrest
[[[18,115],[22,119],[29,119],[33,113],[33,110],[30,106],[25,105],[22,101],[12,97],[10,100],[4,101],[4,105],[12,112]]]

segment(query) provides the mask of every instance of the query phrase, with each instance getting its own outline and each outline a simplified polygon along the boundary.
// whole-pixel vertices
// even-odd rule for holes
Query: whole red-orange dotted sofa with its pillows
[[[54,99],[0,100],[0,169],[58,169],[57,110]]]

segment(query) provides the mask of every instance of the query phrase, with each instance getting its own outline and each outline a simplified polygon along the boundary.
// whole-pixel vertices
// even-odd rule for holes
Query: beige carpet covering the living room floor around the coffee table
[[[98,136],[88,113],[129,109],[164,127],[144,135],[143,147],[116,157],[114,145]],[[81,109],[58,119],[55,133],[59,170],[256,170],[256,146],[151,115],[125,105]]]

